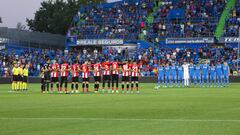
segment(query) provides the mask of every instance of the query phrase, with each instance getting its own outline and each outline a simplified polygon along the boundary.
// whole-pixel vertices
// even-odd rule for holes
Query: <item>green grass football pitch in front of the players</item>
[[[9,93],[0,85],[0,135],[239,135],[240,84],[140,94]]]

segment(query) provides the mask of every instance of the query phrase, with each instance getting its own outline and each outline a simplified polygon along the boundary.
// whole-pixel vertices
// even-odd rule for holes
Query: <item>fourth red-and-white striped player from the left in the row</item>
[[[89,88],[89,67],[88,61],[85,61],[84,64],[80,67],[80,71],[82,71],[82,92],[84,92],[86,85],[86,92],[88,92]]]

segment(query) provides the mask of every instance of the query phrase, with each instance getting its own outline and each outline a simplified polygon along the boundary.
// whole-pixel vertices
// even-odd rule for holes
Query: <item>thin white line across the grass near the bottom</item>
[[[231,119],[126,119],[126,118],[0,118],[0,120],[86,120],[86,121],[165,121],[165,122],[240,122]]]

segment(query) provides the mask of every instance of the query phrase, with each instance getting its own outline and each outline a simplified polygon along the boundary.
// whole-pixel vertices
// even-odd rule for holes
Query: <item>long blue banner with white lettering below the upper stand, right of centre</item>
[[[200,44],[214,43],[214,38],[166,38],[166,44]]]

